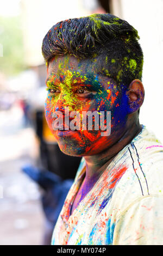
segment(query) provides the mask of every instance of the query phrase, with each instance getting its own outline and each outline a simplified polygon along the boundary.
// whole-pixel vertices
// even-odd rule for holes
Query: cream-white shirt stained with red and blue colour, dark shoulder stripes
[[[163,145],[145,126],[108,165],[70,215],[82,159],[52,245],[163,245]]]

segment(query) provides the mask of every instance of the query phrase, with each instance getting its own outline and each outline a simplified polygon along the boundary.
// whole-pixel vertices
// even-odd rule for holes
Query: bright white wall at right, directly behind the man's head
[[[163,143],[163,0],[112,0],[112,12],[139,32],[145,87],[140,122]]]

